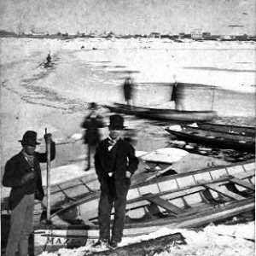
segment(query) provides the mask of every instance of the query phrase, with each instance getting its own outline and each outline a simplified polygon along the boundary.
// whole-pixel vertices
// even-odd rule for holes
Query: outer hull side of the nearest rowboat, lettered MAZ
[[[201,212],[194,216],[187,216],[183,219],[166,218],[161,223],[150,222],[148,224],[125,224],[123,241],[132,236],[143,236],[161,227],[167,229],[195,228],[214,221],[220,221],[233,217],[241,212],[252,211],[255,208],[254,199],[240,201],[230,204],[223,209],[212,208],[211,211]],[[84,247],[99,239],[98,226],[76,227],[70,226],[64,230],[35,230],[34,232],[34,253],[38,255],[44,251],[55,252],[67,247]]]

